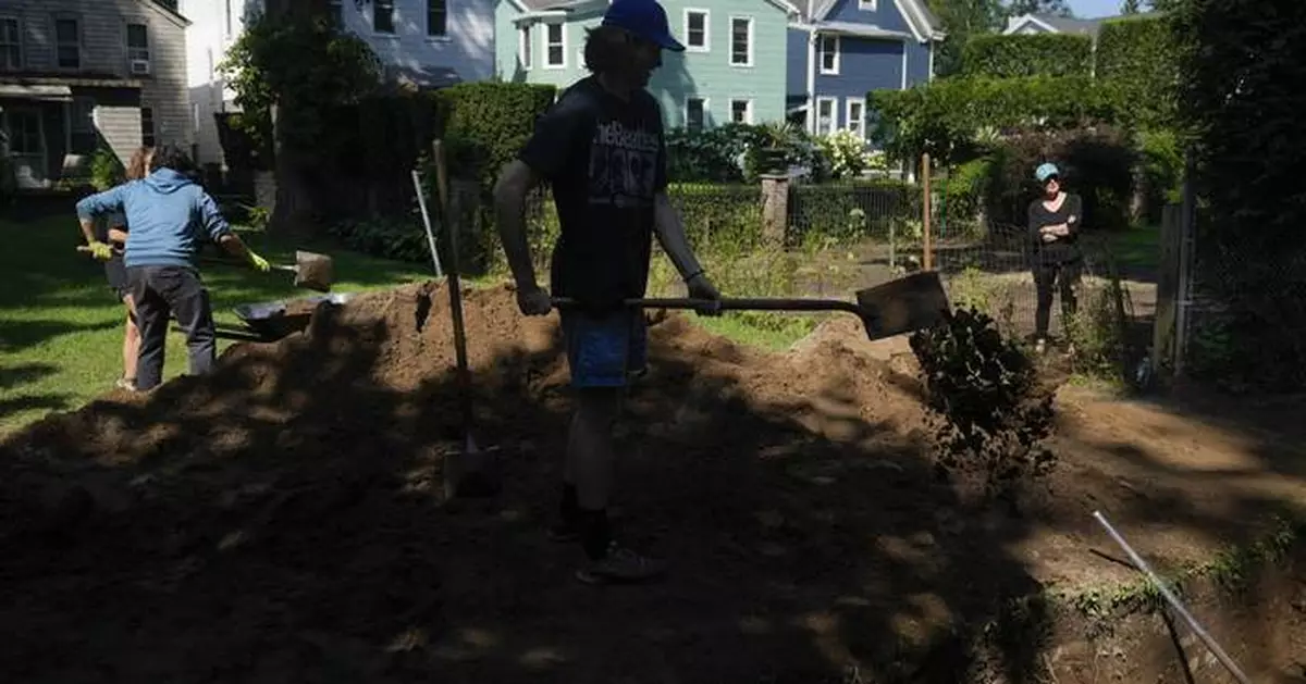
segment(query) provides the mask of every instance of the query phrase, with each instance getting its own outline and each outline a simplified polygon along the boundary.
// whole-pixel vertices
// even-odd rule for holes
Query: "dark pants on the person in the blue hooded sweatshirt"
[[[200,282],[200,274],[184,266],[133,266],[127,269],[127,279],[141,330],[136,389],[153,389],[163,380],[163,350],[172,315],[185,333],[191,375],[212,371],[218,355],[218,335],[209,291]]]

